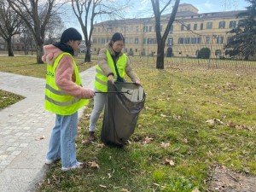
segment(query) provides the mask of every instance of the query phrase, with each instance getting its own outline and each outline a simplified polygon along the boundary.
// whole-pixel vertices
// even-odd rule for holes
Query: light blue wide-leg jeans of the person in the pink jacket
[[[75,138],[78,135],[78,112],[71,115],[56,114],[55,127],[49,139],[48,160],[61,158],[62,167],[75,166],[76,146]]]

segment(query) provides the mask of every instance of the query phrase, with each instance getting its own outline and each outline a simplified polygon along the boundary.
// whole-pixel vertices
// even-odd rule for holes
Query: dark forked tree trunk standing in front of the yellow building
[[[166,4],[164,4],[162,9],[160,9],[159,0],[151,0],[152,8],[154,11],[155,34],[156,34],[156,40],[157,40],[156,68],[159,68],[159,69],[164,69],[166,38],[168,37],[168,33],[170,32],[172,23],[175,20],[179,2],[180,0],[175,0],[175,4],[172,9],[172,14],[170,15],[170,18],[168,20],[166,30],[163,36],[161,36],[161,15],[166,10],[166,8],[168,8],[168,6],[172,3],[172,0],[168,0]]]

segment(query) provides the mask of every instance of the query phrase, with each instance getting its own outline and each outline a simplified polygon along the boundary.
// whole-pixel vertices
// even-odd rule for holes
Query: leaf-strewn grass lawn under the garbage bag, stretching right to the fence
[[[86,166],[51,166],[38,191],[207,191],[215,165],[256,175],[255,73],[175,62],[157,70],[153,61],[131,61],[147,94],[131,143],[103,145],[101,118],[96,143],[84,145],[90,102],[77,138]]]

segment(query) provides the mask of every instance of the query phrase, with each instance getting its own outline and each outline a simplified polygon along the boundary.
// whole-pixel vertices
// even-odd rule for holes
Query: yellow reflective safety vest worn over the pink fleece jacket
[[[89,101],[87,99],[78,99],[74,96],[67,95],[55,84],[55,70],[58,67],[59,61],[63,55],[70,54],[62,53],[61,55],[57,56],[53,65],[47,64],[44,107],[52,113],[70,115],[77,112],[79,108],[82,108],[84,105],[88,104]],[[70,56],[73,59],[73,56]],[[82,86],[79,69],[74,59],[73,70],[76,77],[75,84]]]

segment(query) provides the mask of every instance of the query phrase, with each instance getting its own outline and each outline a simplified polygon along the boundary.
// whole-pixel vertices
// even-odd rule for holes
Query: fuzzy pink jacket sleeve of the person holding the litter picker
[[[84,89],[75,82],[73,60],[68,55],[63,55],[55,72],[55,84],[65,93],[76,98],[90,98],[90,90]]]

